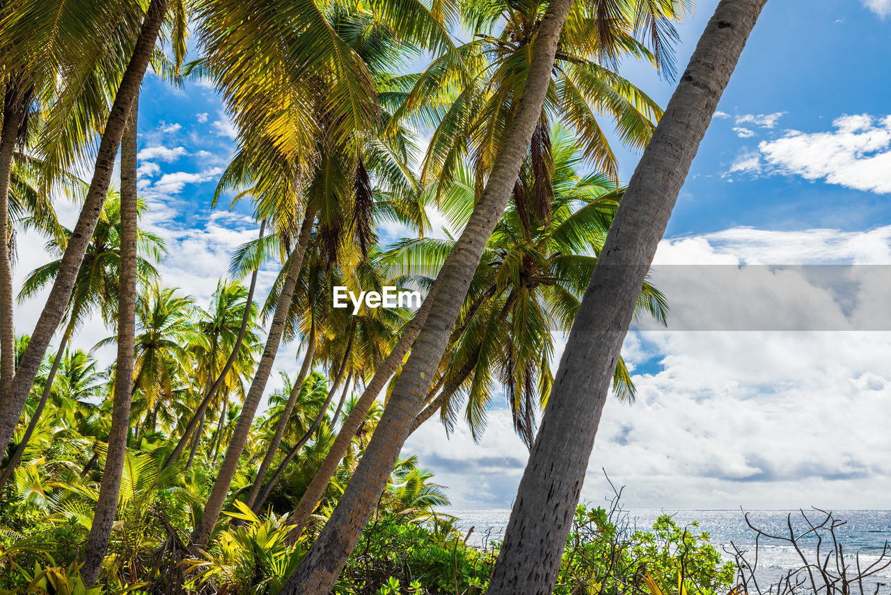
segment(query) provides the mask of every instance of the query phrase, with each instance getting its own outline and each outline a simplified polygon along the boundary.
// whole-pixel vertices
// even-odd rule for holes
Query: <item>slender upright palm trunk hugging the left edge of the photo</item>
[[[10,252],[9,183],[21,122],[20,95],[12,82],[4,94],[3,132],[0,133],[0,394],[15,376],[15,327],[12,318],[12,253]],[[0,403],[2,404],[2,403]],[[21,412],[20,412],[21,413]],[[19,419],[16,417],[16,423]],[[14,426],[13,426],[14,427]],[[4,446],[6,442],[3,442]]]

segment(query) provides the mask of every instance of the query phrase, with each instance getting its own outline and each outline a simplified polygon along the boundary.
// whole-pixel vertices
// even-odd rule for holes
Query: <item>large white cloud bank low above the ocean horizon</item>
[[[752,287],[740,296],[725,292],[723,309],[713,309],[713,315],[732,317],[744,302],[750,310],[770,310],[778,297],[771,293],[776,276],[789,276],[790,269],[777,272],[768,265],[891,269],[891,227],[867,232],[735,227],[666,240],[659,245],[653,280],[665,285],[671,302],[676,288],[670,278],[659,279],[660,269],[743,264],[755,267]],[[706,285],[708,278],[695,281]],[[840,307],[846,296],[827,293],[807,275],[793,281],[786,287],[797,292],[791,303],[799,311],[790,309],[783,317],[857,316],[856,308]],[[689,292],[690,283],[683,289]],[[861,303],[877,302],[888,291],[887,286],[877,291],[868,279],[849,289],[853,295],[847,297]],[[634,368],[637,401],[608,401],[583,500],[600,502],[610,493],[605,469],[613,483],[626,486],[631,507],[883,505],[891,489],[885,456],[891,437],[884,429],[891,416],[891,376],[882,372],[891,357],[887,332],[634,332],[623,351]],[[526,460],[503,406],[492,412],[478,446],[464,429],[446,442],[434,420],[406,450],[421,454],[449,485],[459,508],[510,506]]]

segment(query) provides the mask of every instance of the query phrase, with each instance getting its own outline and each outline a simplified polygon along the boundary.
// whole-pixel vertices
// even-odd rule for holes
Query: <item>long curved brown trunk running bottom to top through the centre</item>
[[[517,113],[486,182],[486,189],[439,273],[440,286],[434,298],[435,306],[414,342],[412,354],[405,362],[372,441],[365,449],[346,492],[306,558],[285,584],[283,595],[324,595],[331,591],[340,569],[347,563],[376,508],[399,450],[411,431],[414,418],[421,411],[439,359],[446,351],[449,335],[486,241],[501,218],[517,182],[520,164],[541,118],[560,30],[571,5],[572,0],[552,0],[544,13],[532,48],[527,82]]]

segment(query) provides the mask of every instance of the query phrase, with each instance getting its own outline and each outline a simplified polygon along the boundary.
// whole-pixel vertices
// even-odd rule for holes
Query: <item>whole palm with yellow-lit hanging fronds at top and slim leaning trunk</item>
[[[216,525],[247,443],[314,227],[332,260],[354,238],[363,251],[372,241],[366,225],[372,183],[366,168],[375,158],[388,161],[380,145],[374,145],[377,153],[366,151],[379,115],[374,75],[385,76],[385,69],[405,55],[405,38],[418,37],[423,29],[418,21],[429,14],[423,9],[405,19],[358,5],[321,11],[312,2],[261,4],[205,3],[199,11],[206,69],[240,129],[241,150],[221,185],[247,186],[257,219],[269,220],[276,229],[284,265],[266,348],[205,512],[192,532],[198,545],[207,543]],[[425,22],[424,28],[441,29],[436,19]],[[233,55],[251,60],[233,62]],[[312,109],[301,110],[305,105]],[[405,178],[405,168],[389,171],[405,186],[399,179]]]

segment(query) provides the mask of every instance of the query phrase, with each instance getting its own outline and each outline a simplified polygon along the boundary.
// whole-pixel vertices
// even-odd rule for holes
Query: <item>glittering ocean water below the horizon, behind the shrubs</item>
[[[511,510],[509,508],[493,508],[487,510],[447,509],[449,514],[457,516],[458,525],[466,532],[474,527],[468,543],[480,546],[483,541],[500,539],[504,527],[507,525]],[[627,509],[629,524],[632,528],[649,529],[658,516],[669,514],[674,517],[678,525],[689,525],[693,521],[699,522],[699,532],[707,532],[711,542],[721,551],[724,558],[732,560],[725,550],[731,550],[731,542],[740,550],[754,552],[756,532],[746,524],[743,513],[740,510],[658,510],[658,509]],[[802,533],[805,530],[805,520],[798,510],[752,510],[748,511],[748,518],[752,525],[765,533],[772,535],[789,534],[788,518],[791,514],[791,522],[795,532]],[[822,521],[822,513],[815,510],[806,510],[805,513],[812,521]],[[834,517],[846,521],[839,526],[836,536],[843,547],[845,557],[854,564],[854,555],[859,552],[861,566],[868,566],[879,559],[886,541],[891,541],[891,510],[835,510]],[[805,539],[802,549],[805,553],[812,553],[815,548],[815,540]],[[824,542],[822,551],[826,551]],[[747,558],[750,558],[747,556]],[[813,559],[813,557],[811,558]],[[753,562],[750,558],[749,562]],[[795,548],[788,542],[776,540],[759,540],[758,548],[758,572],[759,583],[767,581],[773,583],[780,579],[781,575],[789,569],[801,565]],[[885,568],[873,576],[864,584],[871,585],[867,591],[873,593],[878,586],[884,583],[879,593],[891,594],[891,567]]]

